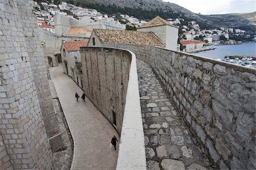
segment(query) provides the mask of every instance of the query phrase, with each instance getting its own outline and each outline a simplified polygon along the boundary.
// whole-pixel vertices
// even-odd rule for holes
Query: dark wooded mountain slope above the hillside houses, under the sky
[[[255,31],[256,13],[249,14],[223,14],[223,15],[200,15],[176,5],[175,3],[163,2],[162,0],[66,0],[76,5],[92,7],[101,13],[122,13],[133,15],[138,19],[150,20],[156,15],[164,19],[184,18],[185,22],[196,20],[201,28],[213,27],[243,27]]]

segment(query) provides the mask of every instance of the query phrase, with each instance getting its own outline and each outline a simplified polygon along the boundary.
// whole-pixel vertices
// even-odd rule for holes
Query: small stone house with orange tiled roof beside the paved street
[[[81,70],[81,55],[80,47],[86,47],[88,41],[68,41],[61,45],[61,59],[63,63],[63,72],[72,77],[73,80],[81,88],[82,85],[82,70]]]

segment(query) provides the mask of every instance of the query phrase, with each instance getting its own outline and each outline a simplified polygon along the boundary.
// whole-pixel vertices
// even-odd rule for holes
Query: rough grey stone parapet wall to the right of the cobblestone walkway
[[[158,47],[104,45],[151,65],[213,164],[255,169],[255,69]]]

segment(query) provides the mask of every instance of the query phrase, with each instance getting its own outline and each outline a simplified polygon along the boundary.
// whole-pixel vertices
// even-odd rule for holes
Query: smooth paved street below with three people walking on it
[[[82,101],[82,90],[63,73],[61,64],[50,72],[74,140],[71,169],[115,169],[118,150],[109,146],[117,132],[88,98]],[[75,92],[80,96],[78,102]]]

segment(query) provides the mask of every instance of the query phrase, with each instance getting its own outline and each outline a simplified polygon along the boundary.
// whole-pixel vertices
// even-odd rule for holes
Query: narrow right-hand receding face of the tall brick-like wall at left
[[[28,58],[30,60],[32,76],[34,77],[36,92],[38,94],[39,104],[42,111],[44,125],[46,126],[48,138],[59,134],[59,125],[55,110],[53,109],[51,91],[49,89],[47,69],[44,61],[45,53],[40,40],[40,30],[38,28],[33,1],[17,1],[22,23],[24,39],[27,45]],[[57,139],[57,138],[56,138]],[[61,148],[61,141],[60,148]]]

